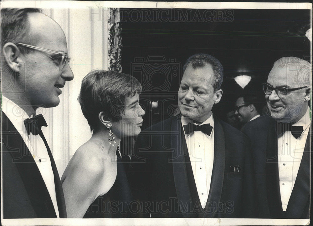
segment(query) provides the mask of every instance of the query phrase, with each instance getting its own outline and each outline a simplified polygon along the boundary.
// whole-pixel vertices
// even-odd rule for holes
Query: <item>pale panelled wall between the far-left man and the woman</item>
[[[77,97],[84,76],[92,69],[108,68],[107,8],[43,9],[64,30],[69,63],[74,79],[62,89],[60,104],[55,108],[39,109],[48,123],[43,128],[54,160],[62,176],[77,148],[91,136]]]

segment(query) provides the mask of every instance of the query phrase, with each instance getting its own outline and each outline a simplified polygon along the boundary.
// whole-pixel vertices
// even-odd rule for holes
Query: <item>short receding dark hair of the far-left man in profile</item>
[[[28,13],[41,13],[40,8],[2,8],[1,9],[1,49],[3,45],[12,42],[14,44],[33,44]],[[29,48],[20,48],[22,52]]]

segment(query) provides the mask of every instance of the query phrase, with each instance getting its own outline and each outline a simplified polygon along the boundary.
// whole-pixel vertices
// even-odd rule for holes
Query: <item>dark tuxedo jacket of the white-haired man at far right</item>
[[[300,168],[286,211],[282,210],[278,171],[276,120],[267,115],[246,124],[251,139],[259,218],[309,218],[311,134],[308,134]]]

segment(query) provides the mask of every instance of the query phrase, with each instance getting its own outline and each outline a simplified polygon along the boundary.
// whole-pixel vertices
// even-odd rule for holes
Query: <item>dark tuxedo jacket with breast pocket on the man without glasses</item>
[[[254,173],[248,138],[214,117],[214,162],[203,209],[198,197],[181,118],[141,132],[130,179],[142,217],[254,217]],[[240,172],[234,172],[234,166]],[[145,215],[146,214],[146,215]]]

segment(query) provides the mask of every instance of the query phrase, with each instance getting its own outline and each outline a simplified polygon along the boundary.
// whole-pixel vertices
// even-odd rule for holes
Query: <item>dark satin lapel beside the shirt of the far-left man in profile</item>
[[[21,135],[2,112],[2,139],[13,157],[38,218],[56,218],[48,189]],[[8,154],[8,153],[3,153]],[[5,170],[4,170],[5,171]]]

